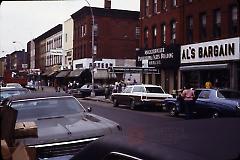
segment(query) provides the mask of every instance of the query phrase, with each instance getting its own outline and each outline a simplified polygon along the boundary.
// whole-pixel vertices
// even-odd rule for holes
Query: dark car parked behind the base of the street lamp
[[[81,88],[70,89],[68,93],[72,94],[75,97],[88,97],[91,96],[92,84],[85,84]],[[95,96],[105,96],[105,88],[94,84]]]

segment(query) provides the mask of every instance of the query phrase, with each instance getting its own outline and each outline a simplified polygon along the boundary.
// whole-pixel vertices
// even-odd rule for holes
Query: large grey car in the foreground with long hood
[[[38,138],[18,141],[35,147],[40,159],[74,155],[99,137],[121,134],[119,124],[87,112],[75,97],[66,93],[13,96],[4,105],[18,110],[17,122],[37,124]]]

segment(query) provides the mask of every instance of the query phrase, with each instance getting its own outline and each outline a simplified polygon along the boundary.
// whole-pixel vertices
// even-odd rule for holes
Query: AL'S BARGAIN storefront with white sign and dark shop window
[[[213,87],[239,90],[239,37],[181,46],[181,87]]]

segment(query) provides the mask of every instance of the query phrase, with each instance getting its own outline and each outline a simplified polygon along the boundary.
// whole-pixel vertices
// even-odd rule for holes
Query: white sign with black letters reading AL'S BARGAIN
[[[240,60],[239,37],[181,46],[181,63]]]

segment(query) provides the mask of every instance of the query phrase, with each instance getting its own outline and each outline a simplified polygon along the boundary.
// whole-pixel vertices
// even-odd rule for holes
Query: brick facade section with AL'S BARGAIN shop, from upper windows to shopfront
[[[210,81],[214,87],[240,90],[239,1],[188,1],[184,22],[182,86],[204,87]]]

